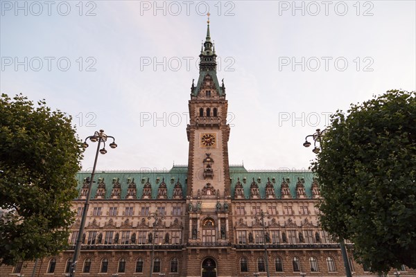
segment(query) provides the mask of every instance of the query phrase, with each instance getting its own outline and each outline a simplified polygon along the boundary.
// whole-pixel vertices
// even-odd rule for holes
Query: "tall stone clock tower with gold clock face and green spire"
[[[209,33],[209,17],[207,37],[199,56],[199,77],[196,84],[192,82],[187,126],[189,233],[185,239],[226,243],[232,241],[233,236],[229,232],[232,224],[228,222],[231,211],[228,103],[224,82],[218,82],[217,78],[217,55]],[[213,232],[207,226],[211,226]]]

